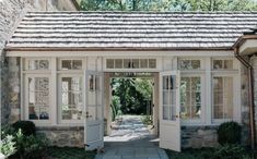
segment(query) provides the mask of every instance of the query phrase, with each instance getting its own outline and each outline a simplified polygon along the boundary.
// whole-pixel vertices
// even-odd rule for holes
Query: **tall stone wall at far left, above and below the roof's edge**
[[[1,123],[20,119],[20,60],[4,58],[5,42],[28,11],[75,11],[71,0],[0,0]]]

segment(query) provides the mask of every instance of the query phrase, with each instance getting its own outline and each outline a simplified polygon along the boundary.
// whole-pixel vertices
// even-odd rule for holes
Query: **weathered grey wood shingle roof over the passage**
[[[15,48],[232,49],[257,12],[31,12]]]

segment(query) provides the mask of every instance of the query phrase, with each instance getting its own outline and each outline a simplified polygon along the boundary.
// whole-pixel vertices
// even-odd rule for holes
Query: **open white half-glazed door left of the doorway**
[[[85,122],[86,150],[104,147],[104,76],[103,73],[85,71]]]

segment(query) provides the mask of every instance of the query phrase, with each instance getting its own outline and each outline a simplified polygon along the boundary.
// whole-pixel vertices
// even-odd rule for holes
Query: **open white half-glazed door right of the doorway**
[[[160,73],[160,147],[180,151],[179,72]]]

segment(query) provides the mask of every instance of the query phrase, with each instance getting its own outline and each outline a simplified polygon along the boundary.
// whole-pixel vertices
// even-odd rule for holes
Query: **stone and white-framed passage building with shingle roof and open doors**
[[[3,118],[34,121],[55,145],[101,148],[109,81],[133,73],[154,81],[161,147],[215,146],[225,121],[241,123],[249,144],[250,66],[235,42],[256,20],[257,12],[30,12],[4,48]]]

